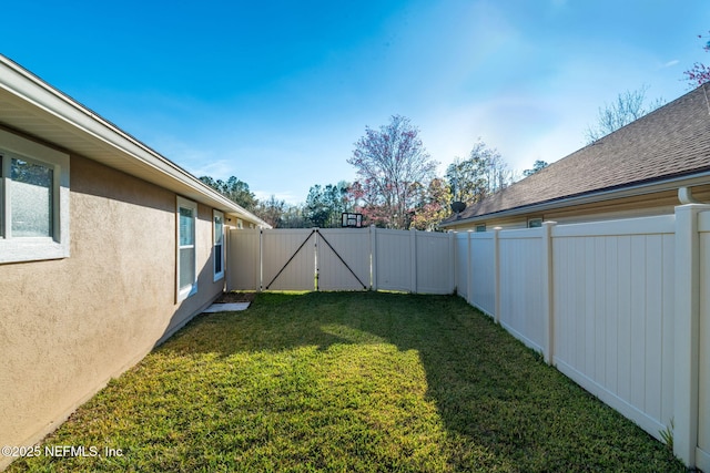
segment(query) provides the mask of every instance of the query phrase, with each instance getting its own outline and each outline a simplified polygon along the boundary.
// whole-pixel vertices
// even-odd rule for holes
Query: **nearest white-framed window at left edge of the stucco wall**
[[[69,156],[0,130],[0,264],[69,256]]]

